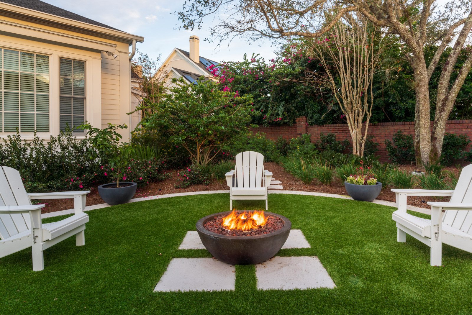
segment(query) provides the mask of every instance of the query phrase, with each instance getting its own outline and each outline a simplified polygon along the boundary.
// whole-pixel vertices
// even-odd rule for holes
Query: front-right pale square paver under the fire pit
[[[315,256],[273,257],[255,267],[259,290],[336,288]]]

